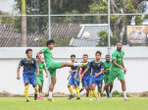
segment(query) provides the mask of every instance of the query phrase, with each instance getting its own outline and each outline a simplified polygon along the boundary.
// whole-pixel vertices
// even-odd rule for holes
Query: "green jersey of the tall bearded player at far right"
[[[122,65],[123,57],[124,57],[124,51],[119,52],[116,50],[112,53],[112,61],[116,60],[118,65]],[[119,70],[120,68],[112,64],[112,69]]]

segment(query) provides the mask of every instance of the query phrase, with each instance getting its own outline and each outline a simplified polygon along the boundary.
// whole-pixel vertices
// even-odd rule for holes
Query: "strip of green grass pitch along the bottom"
[[[67,100],[67,98],[55,98],[54,102],[34,101],[26,103],[21,97],[1,97],[0,110],[148,110],[148,98],[103,98],[101,101],[90,101],[88,98],[81,100]]]

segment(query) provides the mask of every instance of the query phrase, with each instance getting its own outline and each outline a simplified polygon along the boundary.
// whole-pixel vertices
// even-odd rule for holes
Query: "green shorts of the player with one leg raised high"
[[[62,68],[62,62],[52,62],[47,67],[48,71],[50,72],[51,78],[56,77],[56,70]]]

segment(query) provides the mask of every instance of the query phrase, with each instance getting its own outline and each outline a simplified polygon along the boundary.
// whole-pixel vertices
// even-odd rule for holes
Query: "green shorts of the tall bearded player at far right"
[[[118,78],[118,80],[125,80],[124,71],[122,69],[111,70],[111,73],[109,75],[109,82],[113,83],[116,78]]]

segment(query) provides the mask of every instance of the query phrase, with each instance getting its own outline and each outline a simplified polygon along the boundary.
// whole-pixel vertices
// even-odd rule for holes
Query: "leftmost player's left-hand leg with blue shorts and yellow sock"
[[[28,97],[28,89],[29,89],[29,77],[28,75],[23,75],[23,79],[24,79],[24,94],[25,94],[25,98],[26,98],[26,102],[29,102],[29,97]]]

